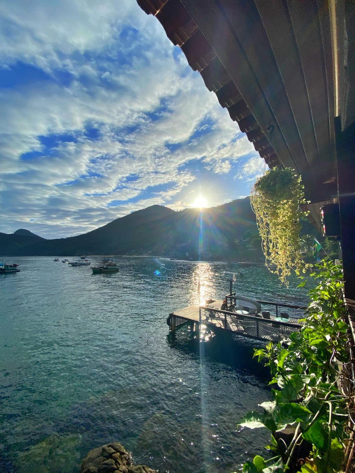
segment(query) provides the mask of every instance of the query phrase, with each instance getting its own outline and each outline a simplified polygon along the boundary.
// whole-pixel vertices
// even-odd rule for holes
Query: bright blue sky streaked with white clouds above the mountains
[[[249,194],[264,161],[135,0],[0,4],[0,232]]]

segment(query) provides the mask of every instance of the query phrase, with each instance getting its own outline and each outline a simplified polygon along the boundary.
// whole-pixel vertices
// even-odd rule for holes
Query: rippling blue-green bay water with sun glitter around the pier
[[[235,265],[118,258],[119,273],[92,275],[50,257],[12,260],[21,272],[0,276],[1,472],[78,472],[111,441],[170,473],[230,472],[260,452],[265,431],[237,430],[270,397],[256,342],[199,342],[166,324],[198,302],[198,279],[202,298],[222,298]],[[241,271],[240,294],[306,302],[296,281],[285,289],[264,267]]]

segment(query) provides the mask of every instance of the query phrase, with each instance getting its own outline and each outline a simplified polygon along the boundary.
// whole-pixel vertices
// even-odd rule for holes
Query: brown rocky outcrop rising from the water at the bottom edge
[[[145,465],[133,465],[132,456],[118,442],[94,448],[84,458],[80,473],[156,473]]]

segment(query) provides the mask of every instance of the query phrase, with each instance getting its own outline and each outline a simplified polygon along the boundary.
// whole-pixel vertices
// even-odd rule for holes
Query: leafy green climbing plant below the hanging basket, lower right
[[[310,291],[300,332],[290,335],[286,347],[270,342],[265,350],[255,350],[254,356],[270,368],[270,385],[277,387],[272,390],[274,400],[260,404],[263,412],[248,412],[240,426],[269,429],[271,443],[266,448],[275,456],[264,460],[257,455],[244,464],[243,472],[342,469],[349,406],[338,387],[344,376],[339,363],[344,368],[348,359],[342,269],[323,261],[311,277],[318,286]]]

